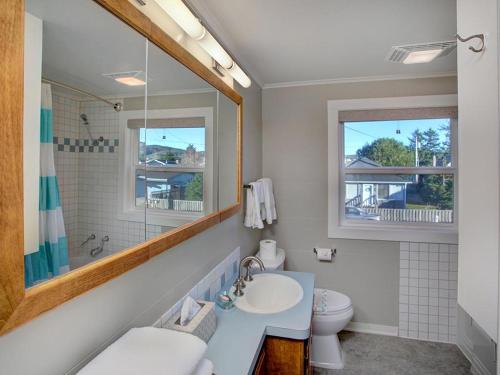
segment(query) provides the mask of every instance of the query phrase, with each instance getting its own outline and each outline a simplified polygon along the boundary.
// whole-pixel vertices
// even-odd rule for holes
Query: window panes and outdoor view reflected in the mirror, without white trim
[[[139,142],[135,164],[136,206],[203,212],[205,126],[204,121],[193,124],[185,127],[174,122],[168,127],[135,129],[139,133],[134,137]]]

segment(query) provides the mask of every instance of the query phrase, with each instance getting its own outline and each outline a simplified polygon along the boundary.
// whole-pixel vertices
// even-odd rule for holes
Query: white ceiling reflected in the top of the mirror
[[[146,71],[146,40],[93,1],[27,0],[43,20],[43,76],[103,96],[143,95],[104,73]],[[158,47],[149,45],[148,93],[211,86]]]

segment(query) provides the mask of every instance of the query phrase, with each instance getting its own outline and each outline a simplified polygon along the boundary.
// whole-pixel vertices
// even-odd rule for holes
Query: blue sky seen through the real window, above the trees
[[[345,155],[353,155],[367,143],[372,143],[378,138],[393,138],[409,145],[408,138],[420,129],[422,132],[432,128],[438,132],[441,142],[446,139],[446,132],[441,126],[450,125],[448,119],[425,119],[425,120],[400,120],[400,121],[370,121],[370,122],[346,122],[344,125],[344,150]],[[397,134],[397,130],[401,134]]]

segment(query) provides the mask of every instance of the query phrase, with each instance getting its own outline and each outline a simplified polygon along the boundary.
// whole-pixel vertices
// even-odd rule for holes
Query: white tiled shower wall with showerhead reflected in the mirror
[[[117,218],[119,114],[100,101],[87,101],[63,93],[53,93],[54,144],[56,173],[61,190],[62,209],[69,239],[70,268],[81,267],[96,258],[90,250],[109,237],[99,258],[153,238],[161,226]],[[61,147],[83,144],[89,140],[80,114],[87,115],[90,132],[95,139],[103,137],[109,146]],[[104,144],[104,142],[101,142]],[[110,147],[110,145],[113,145]],[[59,147],[59,148],[58,148]],[[80,246],[91,234],[96,239]]]

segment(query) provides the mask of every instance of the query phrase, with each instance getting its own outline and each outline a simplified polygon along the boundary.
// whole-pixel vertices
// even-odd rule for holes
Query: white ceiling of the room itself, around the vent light
[[[454,39],[456,0],[189,0],[260,84],[456,71],[385,61],[391,46]]]

